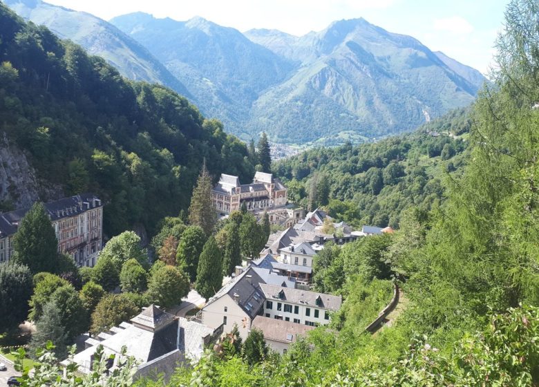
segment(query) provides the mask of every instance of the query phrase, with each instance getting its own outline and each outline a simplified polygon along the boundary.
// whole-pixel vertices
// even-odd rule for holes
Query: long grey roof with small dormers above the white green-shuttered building
[[[310,305],[313,308],[339,310],[343,302],[342,296],[309,292],[308,290],[301,289],[290,289],[289,287],[262,284],[261,290],[268,300],[281,299],[289,303]],[[282,294],[282,296],[279,296],[279,294]],[[316,299],[320,300],[318,304],[316,303]]]

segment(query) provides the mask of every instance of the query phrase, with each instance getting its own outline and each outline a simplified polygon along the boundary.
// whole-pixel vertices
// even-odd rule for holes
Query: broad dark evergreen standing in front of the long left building
[[[15,262],[28,266],[32,274],[60,269],[58,240],[43,203],[35,203],[22,218],[13,245]]]

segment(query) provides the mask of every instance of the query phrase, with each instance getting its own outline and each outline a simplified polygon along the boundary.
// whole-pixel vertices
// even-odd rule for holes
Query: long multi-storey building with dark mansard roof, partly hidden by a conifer
[[[93,193],[45,203],[58,239],[58,252],[70,255],[77,266],[93,266],[102,248],[103,205]],[[0,262],[13,254],[12,237],[29,208],[0,214]]]

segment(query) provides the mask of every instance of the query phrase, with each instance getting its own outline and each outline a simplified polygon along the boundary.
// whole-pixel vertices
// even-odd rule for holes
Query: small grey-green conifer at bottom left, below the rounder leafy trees
[[[66,334],[62,325],[62,316],[54,302],[48,302],[43,308],[43,316],[35,324],[36,332],[30,341],[30,355],[34,356],[39,348],[45,348],[47,341],[56,346],[54,352],[58,359],[66,357]]]

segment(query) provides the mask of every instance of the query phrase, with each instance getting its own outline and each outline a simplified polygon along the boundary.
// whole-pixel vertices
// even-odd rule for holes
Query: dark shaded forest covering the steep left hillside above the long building
[[[3,4],[0,123],[43,180],[104,200],[108,236],[137,223],[153,233],[164,216],[187,209],[203,160],[214,177],[254,173],[245,144],[184,97],[124,79]]]

